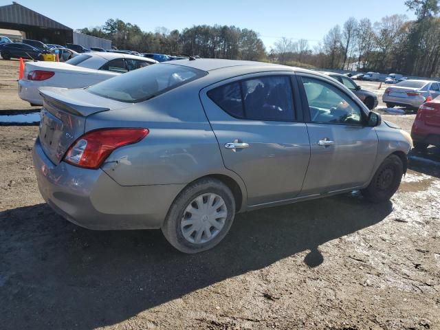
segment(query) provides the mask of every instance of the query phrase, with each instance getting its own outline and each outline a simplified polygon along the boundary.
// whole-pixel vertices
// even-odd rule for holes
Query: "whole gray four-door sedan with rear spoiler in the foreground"
[[[336,80],[267,63],[170,61],[41,95],[45,201],[85,228],[162,228],[186,253],[236,212],[358,189],[386,201],[412,143]]]

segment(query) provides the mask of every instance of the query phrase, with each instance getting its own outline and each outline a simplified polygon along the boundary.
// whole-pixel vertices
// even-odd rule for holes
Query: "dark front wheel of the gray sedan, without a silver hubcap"
[[[399,188],[404,174],[404,164],[397,155],[389,155],[377,168],[368,187],[361,190],[362,195],[373,203],[382,203],[393,197]]]

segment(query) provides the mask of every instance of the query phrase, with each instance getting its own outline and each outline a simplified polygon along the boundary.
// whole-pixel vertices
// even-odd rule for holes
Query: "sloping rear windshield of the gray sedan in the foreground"
[[[175,89],[207,72],[183,65],[157,64],[104,80],[88,89],[91,94],[121,102],[142,102]]]

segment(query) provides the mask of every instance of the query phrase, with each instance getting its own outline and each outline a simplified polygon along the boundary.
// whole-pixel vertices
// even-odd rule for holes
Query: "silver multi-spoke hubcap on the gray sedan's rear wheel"
[[[219,234],[227,217],[228,209],[223,198],[213,193],[199,195],[184,210],[181,233],[190,243],[206,243]]]

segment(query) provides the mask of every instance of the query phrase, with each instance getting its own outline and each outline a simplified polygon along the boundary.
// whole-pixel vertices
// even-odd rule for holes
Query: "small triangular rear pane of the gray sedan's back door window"
[[[208,96],[232,117],[245,118],[240,83],[231,83],[211,89],[208,91]]]

